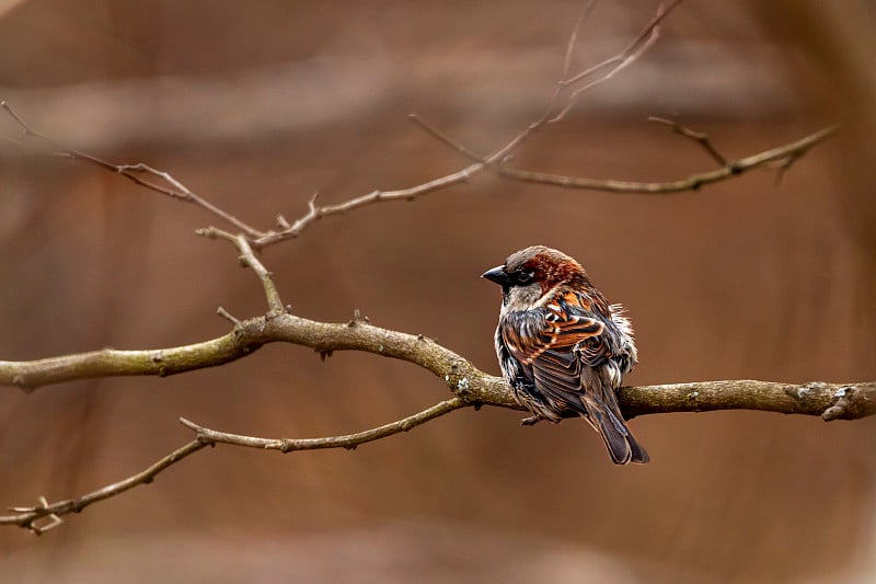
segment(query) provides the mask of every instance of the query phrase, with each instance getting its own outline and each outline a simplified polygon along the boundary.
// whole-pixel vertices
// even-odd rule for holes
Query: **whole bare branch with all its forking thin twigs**
[[[412,335],[374,327],[358,314],[347,323],[326,323],[289,313],[284,308],[272,273],[255,255],[255,252],[269,244],[298,237],[307,227],[323,217],[339,215],[381,202],[413,201],[427,193],[464,182],[484,169],[493,170],[499,175],[511,180],[575,188],[618,193],[695,191],[704,184],[726,180],[754,168],[774,164],[779,165],[780,171],[783,171],[804,156],[809,148],[825,140],[834,131],[835,128],[826,128],[795,142],[728,161],[714,148],[705,134],[696,133],[676,122],[657,118],[655,121],[669,125],[675,133],[695,140],[710,157],[721,164],[717,170],[693,174],[688,179],[675,182],[597,181],[516,170],[506,165],[508,157],[534,131],[548,124],[561,122],[581,94],[610,80],[639,59],[658,38],[660,33],[659,25],[662,20],[680,1],[671,2],[666,9],[661,7],[652,21],[621,53],[606,61],[573,73],[573,54],[578,32],[581,23],[593,7],[593,2],[589,2],[575,25],[566,46],[563,79],[557,83],[543,113],[504,146],[485,157],[480,157],[464,146],[454,142],[450,137],[419,117],[412,116],[412,119],[424,127],[433,137],[450,145],[466,157],[471,164],[457,172],[412,187],[395,191],[373,191],[337,204],[318,206],[316,196],[314,195],[308,202],[307,214],[291,224],[285,217],[278,215],[276,229],[267,231],[260,231],[230,213],[195,195],[183,183],[166,172],[142,163],[113,164],[92,154],[66,148],[57,140],[33,130],[5,102],[0,102],[0,106],[23,129],[25,141],[15,141],[15,144],[26,147],[41,146],[44,148],[47,146],[50,147],[51,153],[55,156],[82,160],[99,168],[116,172],[149,190],[195,204],[238,229],[238,233],[232,233],[210,227],[198,230],[198,234],[212,239],[222,239],[235,247],[240,253],[239,260],[241,264],[252,268],[253,273],[258,277],[268,306],[265,316],[245,320],[237,319],[224,309],[219,308],[218,313],[233,324],[232,331],[220,337],[191,345],[143,351],[104,348],[90,353],[62,355],[30,362],[0,362],[0,385],[16,386],[30,391],[42,386],[77,379],[146,375],[168,376],[223,365],[246,356],[267,343],[283,342],[311,347],[323,357],[334,351],[347,350],[364,351],[384,357],[406,360],[431,371],[442,379],[452,392],[452,397],[449,399],[401,420],[354,434],[322,438],[263,438],[231,434],[181,419],[183,425],[195,432],[195,439],[169,453],[142,471],[74,500],[49,503],[46,497],[41,496],[38,497],[38,505],[11,507],[11,515],[0,516],[0,525],[18,525],[39,535],[60,525],[64,516],[70,513],[79,513],[93,503],[117,496],[139,484],[150,483],[163,470],[204,447],[216,444],[273,449],[281,453],[322,448],[353,449],[360,444],[406,432],[466,406],[493,405],[521,410],[522,408],[516,402],[510,388],[503,379],[480,370],[464,357],[423,335]],[[563,100],[564,105],[561,107],[560,103]],[[27,139],[35,140],[28,141]],[[795,385],[754,380],[728,380],[624,387],[619,390],[619,402],[627,419],[656,413],[742,409],[820,415],[825,421],[856,420],[876,414],[876,381],[842,385],[816,381]]]

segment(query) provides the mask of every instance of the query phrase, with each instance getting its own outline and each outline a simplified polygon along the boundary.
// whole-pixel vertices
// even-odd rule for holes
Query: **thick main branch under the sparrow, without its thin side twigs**
[[[267,343],[291,343],[320,354],[364,351],[428,369],[470,404],[515,408],[508,386],[471,362],[423,336],[374,327],[362,320],[318,322],[292,314],[242,321],[232,333],[182,347],[149,351],[103,350],[35,362],[0,362],[0,383],[36,388],[73,379],[123,375],[173,375],[222,365]],[[846,394],[840,396],[841,390]],[[699,392],[699,393],[696,393]],[[696,393],[696,394],[694,394]],[[703,381],[624,388],[620,401],[629,415],[727,409],[822,415],[851,400],[829,419],[852,420],[876,413],[876,382],[788,385],[766,381]]]

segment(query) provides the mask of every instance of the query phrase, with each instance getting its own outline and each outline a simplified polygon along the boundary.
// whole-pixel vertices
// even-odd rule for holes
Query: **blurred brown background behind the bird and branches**
[[[0,1],[0,99],[35,127],[146,161],[256,226],[464,164],[541,111],[581,2]],[[578,64],[657,2],[604,2]],[[526,168],[668,180],[707,170],[671,117],[740,157],[840,122],[776,183],[670,197],[482,175],[327,218],[264,254],[302,316],[436,337],[497,373],[515,249],[575,255],[629,308],[631,382],[876,377],[876,8],[684,2],[658,45],[518,152]],[[16,128],[2,121],[2,135]],[[205,213],[64,160],[0,149],[0,357],[162,347],[265,310]],[[216,428],[362,430],[447,397],[408,364],[267,346],[170,379],[0,391],[0,505],[64,499]],[[615,468],[583,423],[464,411],[356,451],[203,451],[42,538],[0,530],[8,582],[869,582],[874,422],[751,412],[635,420],[653,462]]]

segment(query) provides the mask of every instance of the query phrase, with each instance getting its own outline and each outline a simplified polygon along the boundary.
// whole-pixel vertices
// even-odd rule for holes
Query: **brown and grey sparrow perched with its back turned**
[[[584,267],[563,252],[533,245],[485,277],[502,286],[496,354],[523,420],[580,415],[606,442],[615,465],[649,457],[624,423],[614,390],[636,364],[633,328]]]

